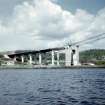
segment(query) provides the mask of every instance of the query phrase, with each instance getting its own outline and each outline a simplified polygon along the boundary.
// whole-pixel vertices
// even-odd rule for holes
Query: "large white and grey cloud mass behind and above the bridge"
[[[17,5],[6,24],[0,21],[1,50],[63,46],[69,40],[75,42],[105,32],[105,8],[96,15],[81,9],[73,14],[56,2],[33,0]],[[104,41],[97,46],[103,46]]]

